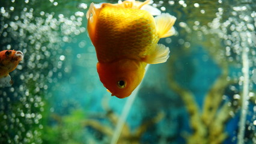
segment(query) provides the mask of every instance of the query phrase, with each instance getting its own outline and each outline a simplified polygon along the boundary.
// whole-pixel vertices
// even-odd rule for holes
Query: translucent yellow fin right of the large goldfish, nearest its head
[[[166,62],[169,58],[169,47],[166,47],[163,44],[156,44],[155,49],[145,58],[142,59],[142,61],[147,62],[148,64],[159,64]]]

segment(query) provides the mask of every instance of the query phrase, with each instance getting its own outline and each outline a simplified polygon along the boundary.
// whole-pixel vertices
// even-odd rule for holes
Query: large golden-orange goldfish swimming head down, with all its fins
[[[153,17],[157,11],[148,2],[91,3],[87,11],[97,72],[112,96],[129,97],[141,83],[147,64],[159,64],[169,58],[169,47],[157,42],[175,34],[176,17],[169,13]]]

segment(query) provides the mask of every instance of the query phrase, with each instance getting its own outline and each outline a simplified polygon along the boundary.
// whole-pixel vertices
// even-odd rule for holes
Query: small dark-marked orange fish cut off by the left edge
[[[23,59],[23,53],[19,50],[2,50],[0,52],[0,87],[13,85],[9,73],[16,69]]]

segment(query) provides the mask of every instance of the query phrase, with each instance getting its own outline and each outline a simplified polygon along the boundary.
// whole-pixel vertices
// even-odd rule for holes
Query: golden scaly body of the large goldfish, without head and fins
[[[159,40],[154,18],[147,11],[105,5],[98,19],[95,46],[99,62],[139,59]]]

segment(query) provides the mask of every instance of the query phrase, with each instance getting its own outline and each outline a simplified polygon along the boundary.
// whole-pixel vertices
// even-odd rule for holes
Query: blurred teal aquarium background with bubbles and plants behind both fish
[[[154,1],[177,32],[134,101],[99,80],[91,2],[102,1],[0,0],[0,50],[25,55],[0,88],[0,143],[256,143],[255,1]]]

